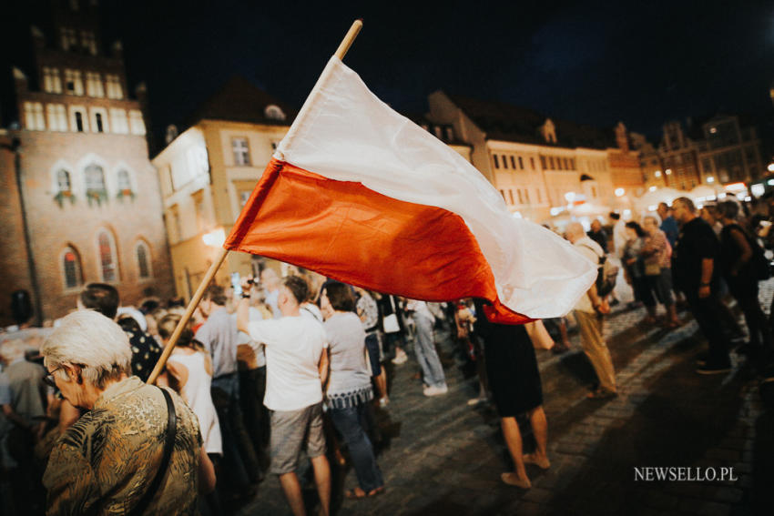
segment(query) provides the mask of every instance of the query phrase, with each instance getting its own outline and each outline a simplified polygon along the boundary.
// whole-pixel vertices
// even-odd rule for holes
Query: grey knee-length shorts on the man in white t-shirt
[[[322,402],[300,410],[271,410],[270,425],[270,473],[295,471],[304,443],[310,459],[325,454]]]

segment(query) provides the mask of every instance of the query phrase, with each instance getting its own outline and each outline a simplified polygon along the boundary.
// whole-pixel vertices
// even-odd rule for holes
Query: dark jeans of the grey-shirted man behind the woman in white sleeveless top
[[[222,471],[226,479],[219,485],[243,491],[250,483],[258,481],[260,470],[239,407],[239,373],[212,379],[210,392],[223,437]]]

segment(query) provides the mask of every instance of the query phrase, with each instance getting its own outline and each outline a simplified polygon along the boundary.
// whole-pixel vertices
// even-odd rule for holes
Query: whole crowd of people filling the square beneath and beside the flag
[[[599,277],[568,317],[523,326],[489,321],[481,299],[426,303],[303,270],[280,278],[263,267],[239,286],[209,285],[158,376],[162,389],[145,382],[182,302],[125,308],[116,288],[89,284],[39,353],[0,348],[4,513],[220,514],[250,500],[271,474],[290,511],[305,514],[300,471],[308,470],[316,509],[327,514],[331,478],[346,474],[345,464],[354,475],[344,498],[378,496],[389,488],[374,423],[374,410],[391,406],[385,366],[402,366],[411,352],[422,394],[443,397],[449,386],[435,340],[443,325],[478,379],[468,404],[491,402],[500,417],[514,465],[502,481],[530,489],[527,466],[551,467],[535,349],[565,352],[575,327],[596,373],[588,398],[617,395],[604,338],[611,305],[622,302],[609,291],[612,262],[648,325],[658,323],[659,305],[667,330],[683,323],[679,306],[690,309],[708,341],[698,373],[727,372],[730,343],[745,334],[728,296],[748,327],[737,353],[761,371],[769,366],[772,323],[758,298],[759,280],[769,278],[760,242],[774,238],[768,214],[743,215],[733,201],[699,210],[680,197],[639,222],[617,214],[609,222],[595,220],[588,232],[566,226],[578,259],[595,263]],[[532,427],[530,453],[520,415]]]

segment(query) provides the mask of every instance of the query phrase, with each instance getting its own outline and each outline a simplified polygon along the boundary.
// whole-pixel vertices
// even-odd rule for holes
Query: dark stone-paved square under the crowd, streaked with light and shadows
[[[768,302],[769,281],[761,294]],[[440,342],[449,393],[425,398],[410,359],[392,369],[391,404],[377,419],[384,436],[378,457],[387,491],[342,500],[354,471],[334,479],[333,514],[774,514],[774,414],[760,406],[757,379],[738,360],[728,375],[701,376],[705,348],[696,323],[666,331],[639,321],[644,310],[619,309],[606,324],[619,396],[586,400],[594,373],[579,349],[561,356],[537,351],[548,418],[550,470],[527,466],[532,489],[500,481],[513,465],[499,420],[488,405],[470,408],[476,380]],[[689,319],[687,314],[683,317]],[[520,421],[524,449],[533,446]],[[733,481],[643,481],[648,466],[733,468]],[[335,467],[334,467],[335,469]],[[342,474],[346,476],[342,479]],[[707,473],[704,474],[706,476]],[[343,483],[343,485],[342,485]],[[308,482],[309,507],[314,504]],[[239,514],[289,514],[279,481],[270,477]]]

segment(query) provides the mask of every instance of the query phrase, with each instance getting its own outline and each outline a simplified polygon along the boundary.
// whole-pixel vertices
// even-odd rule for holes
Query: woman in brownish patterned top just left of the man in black
[[[660,224],[661,220],[657,215],[648,214],[643,218],[642,227],[646,236],[640,256],[644,262],[646,288],[656,294],[658,302],[667,310],[667,328],[677,328],[680,326],[680,319],[677,319],[675,298],[672,297],[672,249],[669,247],[667,235],[658,228]],[[650,317],[656,315],[655,305],[647,310]]]

